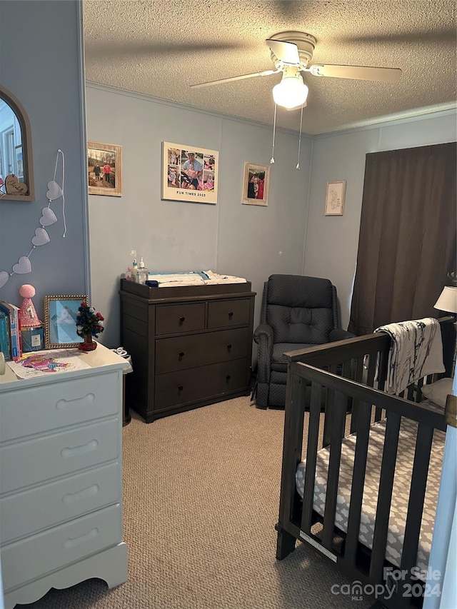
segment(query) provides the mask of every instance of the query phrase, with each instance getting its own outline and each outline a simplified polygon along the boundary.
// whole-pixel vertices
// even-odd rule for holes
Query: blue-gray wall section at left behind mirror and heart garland
[[[46,228],[51,241],[31,253],[31,273],[14,274],[0,288],[0,300],[20,305],[19,287],[31,283],[41,318],[45,294],[89,291],[81,32],[77,1],[0,2],[0,84],[30,119],[36,195],[35,201],[0,200],[0,271],[11,273],[31,251],[57,150],[65,154],[66,238],[59,198],[51,205],[58,222]]]

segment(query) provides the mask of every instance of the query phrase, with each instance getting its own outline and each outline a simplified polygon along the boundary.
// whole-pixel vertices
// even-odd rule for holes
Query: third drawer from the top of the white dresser
[[[110,463],[0,499],[0,544],[121,500],[121,465]]]

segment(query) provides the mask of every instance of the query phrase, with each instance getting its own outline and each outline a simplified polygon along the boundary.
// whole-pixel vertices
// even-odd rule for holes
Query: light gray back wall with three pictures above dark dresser
[[[269,165],[272,129],[88,84],[87,139],[122,146],[123,196],[89,196],[92,303],[106,316],[101,341],[119,344],[119,277],[130,251],[150,271],[201,271],[245,277],[256,291],[271,273],[301,274],[311,138],[278,131],[268,207],[242,205],[246,161]],[[219,151],[216,205],[161,201],[161,142]]]

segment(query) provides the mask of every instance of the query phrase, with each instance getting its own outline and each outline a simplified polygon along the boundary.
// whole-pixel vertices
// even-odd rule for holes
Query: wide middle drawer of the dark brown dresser
[[[159,338],[156,341],[156,374],[206,366],[246,356],[249,329]]]

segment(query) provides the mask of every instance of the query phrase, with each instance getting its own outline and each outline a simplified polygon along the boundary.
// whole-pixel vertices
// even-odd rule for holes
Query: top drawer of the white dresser
[[[121,400],[120,371],[21,385],[1,395],[0,442],[116,414]]]

